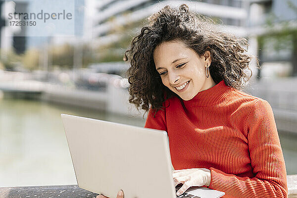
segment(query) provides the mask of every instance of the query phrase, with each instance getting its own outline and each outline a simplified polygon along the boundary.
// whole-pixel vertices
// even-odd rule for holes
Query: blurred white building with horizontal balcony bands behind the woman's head
[[[93,45],[110,45],[127,39],[138,32],[142,22],[153,12],[170,4],[178,6],[187,3],[191,9],[214,20],[221,19],[227,28],[238,35],[245,35],[243,28],[247,20],[247,3],[240,0],[105,0],[95,1],[97,12],[93,22]],[[220,21],[218,21],[220,23]],[[232,27],[237,26],[237,28]],[[122,30],[122,31],[121,31]],[[122,52],[116,50],[117,52]]]

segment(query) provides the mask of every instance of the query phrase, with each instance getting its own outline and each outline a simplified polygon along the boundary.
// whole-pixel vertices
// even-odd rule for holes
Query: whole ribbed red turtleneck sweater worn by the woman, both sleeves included
[[[183,105],[184,103],[184,105]],[[269,103],[225,85],[167,99],[145,127],[167,131],[174,169],[207,168],[223,198],[287,198],[286,167]]]

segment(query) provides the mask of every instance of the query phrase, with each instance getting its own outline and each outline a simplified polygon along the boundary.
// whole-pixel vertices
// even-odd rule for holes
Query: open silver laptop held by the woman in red
[[[125,198],[177,197],[165,131],[66,114],[61,118],[80,188],[110,198],[120,189]],[[224,194],[191,187],[184,195]]]

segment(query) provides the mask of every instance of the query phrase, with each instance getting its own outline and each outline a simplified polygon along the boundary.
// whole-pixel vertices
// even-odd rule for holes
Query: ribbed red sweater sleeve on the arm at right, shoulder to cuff
[[[209,188],[224,198],[287,198],[287,174],[270,104],[259,99],[250,107],[245,123],[254,177],[238,177],[210,168]]]

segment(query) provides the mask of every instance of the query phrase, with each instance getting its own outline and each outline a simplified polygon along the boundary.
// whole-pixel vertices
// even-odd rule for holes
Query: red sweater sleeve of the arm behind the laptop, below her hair
[[[145,124],[146,128],[158,129],[167,132],[166,118],[165,118],[165,108],[163,110],[158,110],[155,114],[155,110],[150,107],[148,111],[148,118]]]

